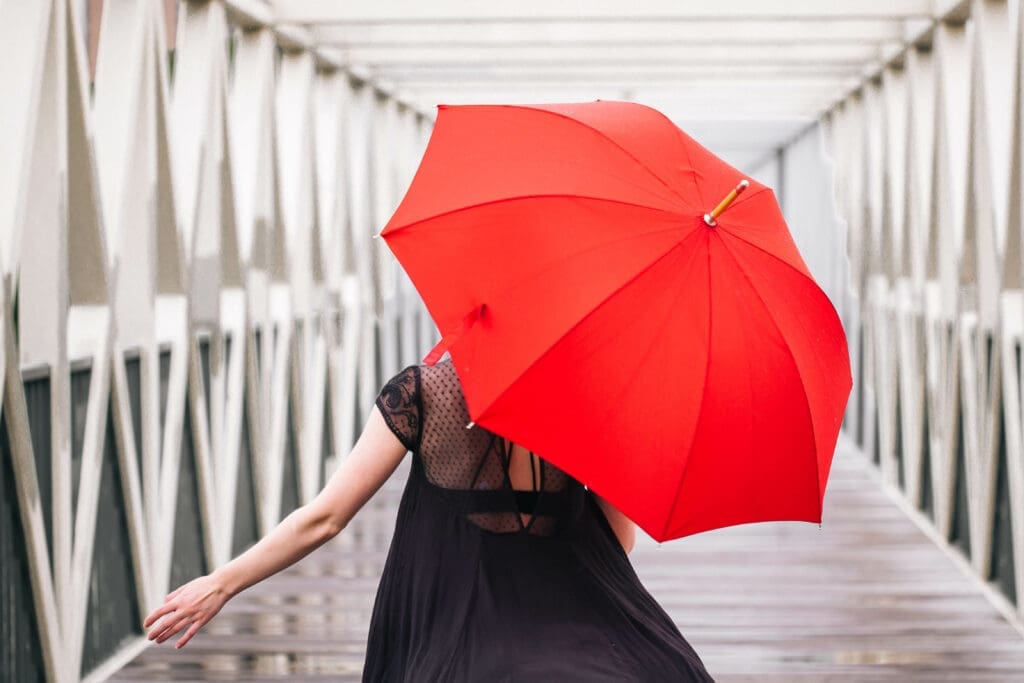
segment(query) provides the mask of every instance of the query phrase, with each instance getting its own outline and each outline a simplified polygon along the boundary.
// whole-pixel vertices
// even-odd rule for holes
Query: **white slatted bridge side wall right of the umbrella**
[[[1019,3],[949,3],[822,119],[849,226],[847,431],[1024,614]]]

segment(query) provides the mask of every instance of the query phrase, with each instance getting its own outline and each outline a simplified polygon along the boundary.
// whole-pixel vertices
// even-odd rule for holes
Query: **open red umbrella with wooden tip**
[[[381,232],[473,421],[658,541],[821,520],[846,338],[769,187],[706,215],[743,179],[640,104],[440,105]]]

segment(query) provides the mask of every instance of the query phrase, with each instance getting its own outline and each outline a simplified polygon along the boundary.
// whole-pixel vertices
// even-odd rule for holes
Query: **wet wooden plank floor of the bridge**
[[[1024,639],[841,447],[824,523],[721,529],[632,555],[716,680],[1024,681]],[[355,681],[401,477],[335,542],[242,594],[187,647],[114,680]]]

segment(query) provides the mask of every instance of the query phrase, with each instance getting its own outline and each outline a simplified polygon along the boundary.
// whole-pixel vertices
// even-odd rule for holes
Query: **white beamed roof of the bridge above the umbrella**
[[[954,0],[229,0],[432,116],[437,103],[630,99],[737,164],[927,42]],[[702,132],[702,136],[699,134]]]

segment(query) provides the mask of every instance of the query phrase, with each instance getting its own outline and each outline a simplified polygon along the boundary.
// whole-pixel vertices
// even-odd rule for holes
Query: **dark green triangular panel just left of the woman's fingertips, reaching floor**
[[[121,481],[121,466],[114,439],[113,407],[108,405],[103,464],[96,504],[96,538],[92,547],[92,575],[82,649],[83,676],[105,661],[126,641],[142,633]]]

